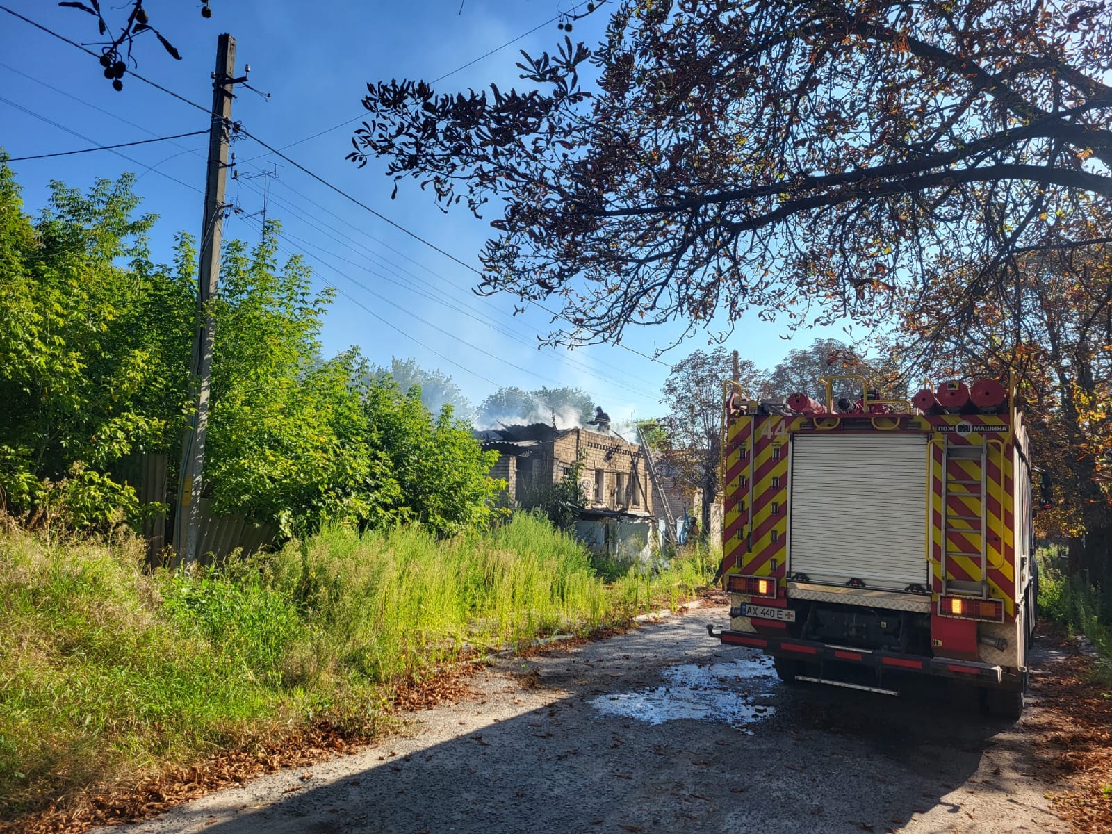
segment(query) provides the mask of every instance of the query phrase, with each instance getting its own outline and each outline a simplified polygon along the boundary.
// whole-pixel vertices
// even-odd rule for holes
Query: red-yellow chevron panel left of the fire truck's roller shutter
[[[786,572],[787,423],[777,416],[739,417],[727,430],[724,573],[782,577]]]

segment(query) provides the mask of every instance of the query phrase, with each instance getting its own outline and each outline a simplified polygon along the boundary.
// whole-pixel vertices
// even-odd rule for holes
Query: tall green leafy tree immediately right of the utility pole
[[[365,514],[371,459],[354,351],[320,359],[321,316],[300,258],[276,261],[277,225],[248,254],[231,241],[215,304],[206,479],[215,509],[319,526]]]

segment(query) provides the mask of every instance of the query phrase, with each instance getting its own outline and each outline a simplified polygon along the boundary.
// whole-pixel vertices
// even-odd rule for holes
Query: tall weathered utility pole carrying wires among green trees
[[[181,475],[178,512],[173,527],[173,549],[178,563],[198,557],[200,497],[205,471],[205,435],[208,428],[209,386],[212,376],[212,342],[216,322],[210,302],[217,296],[220,277],[220,242],[224,234],[225,187],[228,147],[231,138],[232,85],[236,39],[221,34],[217,41],[216,71],[212,73],[212,123],[209,128],[208,171],[205,178],[205,220],[201,225],[200,268],[197,275],[197,327],[190,367],[197,408],[181,443]]]

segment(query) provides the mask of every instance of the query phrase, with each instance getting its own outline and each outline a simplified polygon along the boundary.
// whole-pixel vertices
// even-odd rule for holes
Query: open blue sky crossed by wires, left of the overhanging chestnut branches
[[[91,17],[60,9],[52,0],[0,2],[72,40],[97,39]],[[108,8],[113,0],[102,2]],[[237,71],[250,64],[251,86],[271,93],[265,100],[240,89],[232,117],[278,148],[361,118],[360,100],[368,81],[434,79],[450,72],[437,83],[438,90],[481,88],[492,81],[503,89],[520,85],[514,67],[517,50],[552,50],[564,37],[556,22],[453,71],[572,9],[570,3],[553,0],[465,0],[463,7],[459,0],[212,0],[214,14],[206,20],[199,2],[149,0],[146,7],[151,24],[167,34],[182,60],[172,60],[149,40],[137,50],[138,71],[208,106],[217,36],[230,32],[237,41]],[[593,43],[604,22],[602,13],[589,16],[575,23],[573,34]],[[66,129],[91,143],[110,145],[207,128],[202,113],[135,79],[125,78],[122,92],[113,91],[95,59],[2,12],[0,87],[0,146],[12,157],[90,146]],[[344,160],[353,128],[330,130],[286,152],[439,248],[478,266],[476,254],[490,218],[476,220],[466,211],[446,216],[409,182],[403,183],[391,201],[394,183],[375,161],[358,170]],[[173,235],[179,230],[197,235],[201,225],[206,142],[198,136],[121,150],[130,160],[98,151],[13,162],[12,168],[32,212],[41,208],[51,179],[85,188],[100,177],[136,172],[142,209],[160,216],[152,241],[156,256],[168,259]],[[707,335],[696,334],[661,361],[610,346],[538,350],[537,335],[548,331],[547,314],[530,310],[514,317],[513,297],[475,296],[470,291],[474,272],[271,157],[254,141],[238,140],[234,151],[239,179],[229,182],[228,193],[242,215],[225,224],[225,238],[258,238],[259,217],[248,215],[262,209],[266,182],[268,216],[282,221],[284,251],[304,254],[317,280],[344,294],[325,324],[329,354],[358,345],[378,364],[388,365],[391,356],[411,356],[423,367],[449,374],[476,404],[498,385],[577,386],[613,417],[624,419],[659,414],[667,364],[707,347]],[[264,171],[277,176],[264,178]],[[634,328],[624,344],[652,355],[669,345],[681,329]],[[771,367],[790,349],[818,336],[844,337],[837,328],[804,331],[791,341],[782,338],[786,335],[783,325],[752,315],[738,322],[726,346],[758,366]]]

